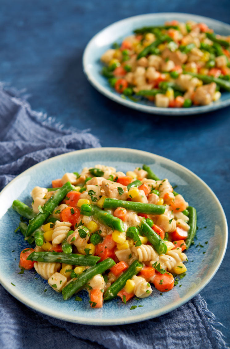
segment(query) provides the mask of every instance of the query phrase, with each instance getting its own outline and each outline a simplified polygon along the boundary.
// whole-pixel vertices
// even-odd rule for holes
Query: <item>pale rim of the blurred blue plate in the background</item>
[[[156,17],[160,15],[171,15],[171,16],[178,16],[182,17],[184,15],[186,16],[191,16],[191,19],[195,18],[200,18],[200,20],[211,20],[215,22],[216,24],[222,25],[226,27],[226,29],[229,30],[229,35],[230,35],[230,24],[215,20],[214,18],[206,17],[206,16],[201,16],[201,15],[196,15],[196,14],[189,14],[189,13],[182,13],[182,12],[159,12],[159,13],[147,13],[147,14],[141,14],[141,15],[136,15],[136,16],[131,16],[127,18],[123,18],[122,20],[118,20],[112,24],[107,25],[107,27],[101,29],[97,34],[95,34],[90,41],[87,43],[83,55],[82,55],[82,67],[83,67],[83,72],[87,78],[87,80],[91,83],[91,85],[99,91],[102,95],[106,96],[107,98],[111,99],[114,102],[117,102],[119,104],[122,104],[126,107],[129,107],[131,109],[135,109],[137,111],[141,112],[146,112],[150,114],[159,114],[159,115],[168,115],[168,116],[174,116],[174,117],[180,117],[184,115],[194,115],[194,114],[203,114],[207,113],[210,111],[215,111],[218,109],[225,108],[230,105],[230,98],[227,99],[226,101],[221,101],[220,103],[211,103],[208,105],[202,105],[202,106],[197,106],[197,107],[190,107],[190,108],[161,108],[161,107],[156,107],[156,106],[149,106],[149,105],[143,105],[139,103],[135,103],[129,99],[123,99],[120,95],[117,95],[114,91],[109,91],[109,89],[103,87],[97,79],[95,79],[92,74],[90,73],[90,70],[87,69],[87,64],[86,64],[86,57],[88,54],[88,51],[90,51],[90,45],[94,42],[95,39],[99,35],[102,34],[103,31],[107,30],[110,27],[113,27],[117,25],[118,23],[121,22],[129,22],[132,20],[135,20],[137,18],[146,18],[146,17]]]

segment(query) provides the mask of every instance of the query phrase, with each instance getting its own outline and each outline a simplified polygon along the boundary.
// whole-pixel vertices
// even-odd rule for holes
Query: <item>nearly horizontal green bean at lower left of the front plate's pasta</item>
[[[66,263],[71,265],[92,266],[95,265],[100,257],[92,255],[83,255],[78,253],[71,253],[66,255],[62,252],[32,252],[27,258],[30,261],[47,262],[47,263]]]

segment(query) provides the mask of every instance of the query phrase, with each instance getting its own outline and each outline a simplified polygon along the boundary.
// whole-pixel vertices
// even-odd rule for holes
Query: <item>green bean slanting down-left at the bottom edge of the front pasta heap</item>
[[[91,256],[90,256],[91,257]],[[94,257],[94,256],[93,256]],[[107,258],[97,265],[81,273],[76,280],[71,281],[62,290],[63,299],[66,300],[83,287],[89,280],[97,274],[104,273],[107,269],[113,267],[116,263],[112,258]]]

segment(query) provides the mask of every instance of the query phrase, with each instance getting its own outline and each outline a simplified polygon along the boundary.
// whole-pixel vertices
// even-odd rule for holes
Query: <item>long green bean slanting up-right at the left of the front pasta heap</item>
[[[39,212],[29,222],[25,236],[30,236],[37,228],[39,228],[52,214],[53,210],[59,203],[66,197],[66,194],[73,190],[72,184],[67,182],[60,189],[56,190],[49,200],[46,201],[45,205],[41,208],[43,213]]]

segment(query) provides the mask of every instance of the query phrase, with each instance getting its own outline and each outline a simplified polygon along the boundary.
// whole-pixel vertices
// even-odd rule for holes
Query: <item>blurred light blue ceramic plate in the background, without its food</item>
[[[216,34],[230,35],[230,25],[213,20],[208,17],[191,15],[186,13],[151,13],[126,18],[115,22],[95,35],[85,48],[83,54],[83,69],[90,83],[103,95],[115,102],[127,107],[152,114],[163,114],[172,116],[181,116],[189,114],[199,114],[230,105],[230,92],[223,92],[219,101],[205,106],[193,106],[190,108],[159,108],[152,102],[146,100],[133,102],[130,99],[123,99],[114,89],[112,89],[107,79],[101,75],[102,64],[101,55],[112,47],[114,42],[121,43],[122,39],[133,34],[133,30],[148,25],[161,25],[165,21],[178,20],[186,22],[193,20],[195,22],[204,22],[210,28],[214,29]]]

